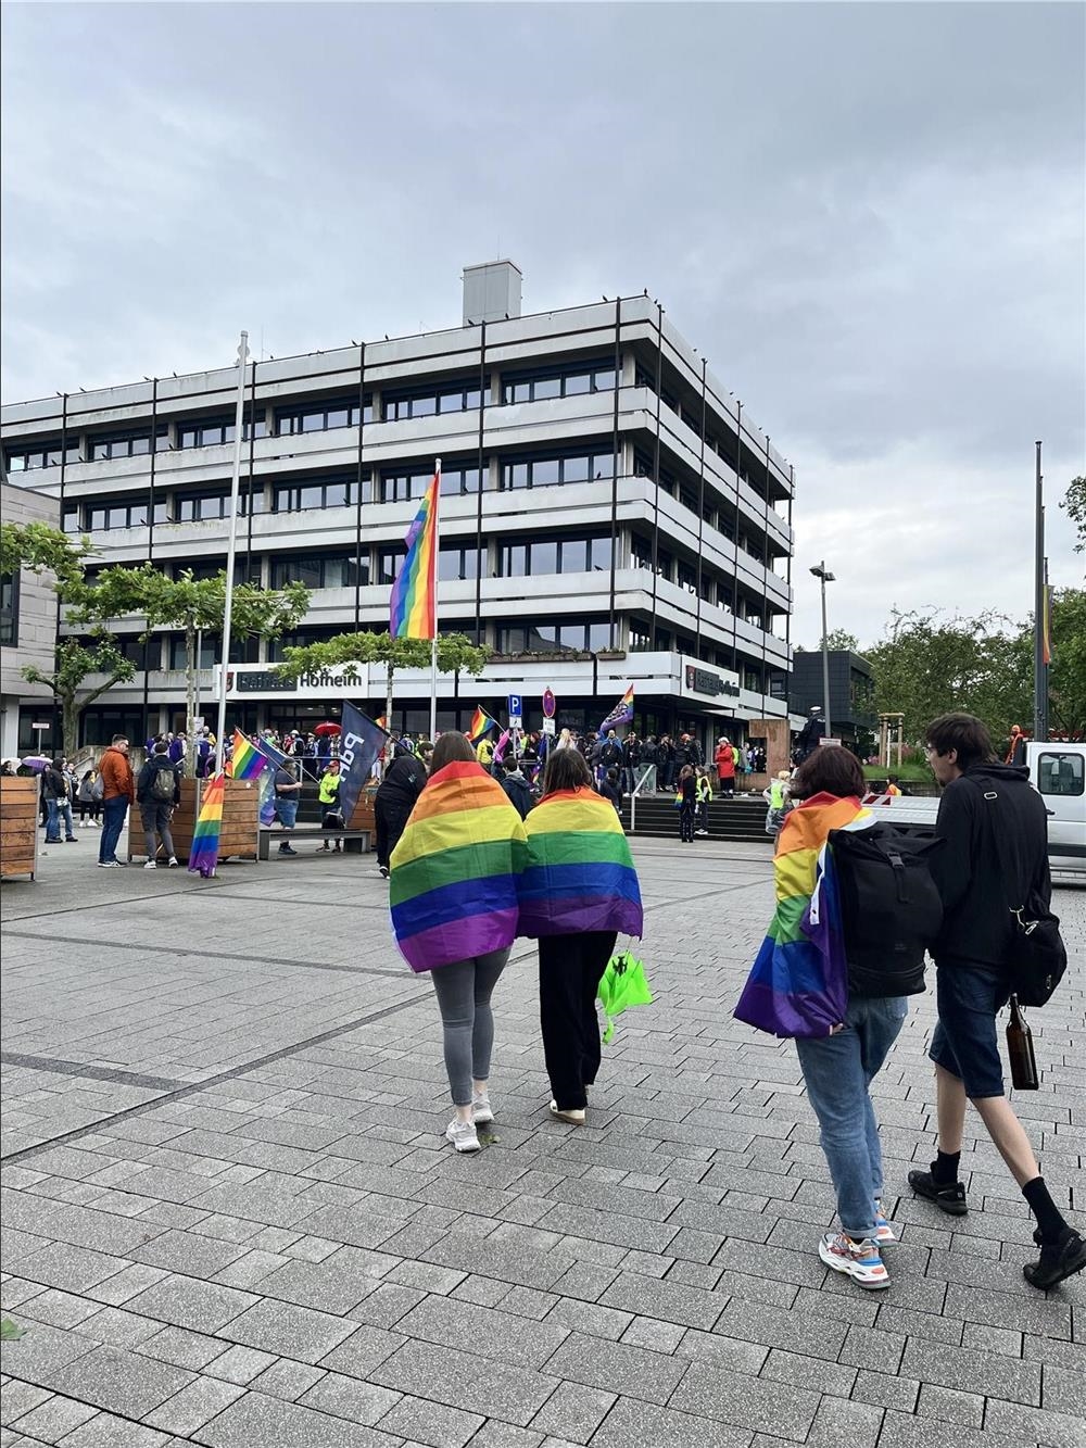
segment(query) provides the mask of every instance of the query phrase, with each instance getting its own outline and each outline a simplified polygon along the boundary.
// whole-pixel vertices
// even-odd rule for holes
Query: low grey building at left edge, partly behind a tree
[[[30,488],[17,488],[9,482],[0,485],[0,515],[4,523],[49,523],[59,524],[58,502]],[[38,720],[48,723],[49,730],[30,734],[35,744],[59,749],[59,736],[54,736],[52,694],[41,683],[28,683],[23,669],[35,665],[49,669],[54,663],[56,644],[56,594],[52,573],[32,573],[23,568],[14,586],[4,579],[3,639],[0,643],[0,756],[13,759],[19,750],[19,707],[35,704]],[[22,750],[26,753],[26,750]]]

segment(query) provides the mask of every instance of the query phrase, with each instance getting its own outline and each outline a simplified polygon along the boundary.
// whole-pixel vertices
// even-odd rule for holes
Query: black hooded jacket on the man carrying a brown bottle
[[[996,830],[1014,876],[1006,891]],[[1015,895],[1015,905],[1032,898],[1047,906],[1053,895],[1048,817],[1030,785],[1030,770],[1009,765],[967,769],[943,791],[935,834],[947,841],[931,859],[946,912],[931,951],[935,963],[999,967],[1012,938],[1008,892]]]

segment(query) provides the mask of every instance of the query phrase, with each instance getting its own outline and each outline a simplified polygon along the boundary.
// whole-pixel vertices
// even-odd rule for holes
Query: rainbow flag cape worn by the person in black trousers
[[[615,930],[640,937],[641,891],[610,799],[586,788],[556,789],[529,811],[524,828],[518,935]]]

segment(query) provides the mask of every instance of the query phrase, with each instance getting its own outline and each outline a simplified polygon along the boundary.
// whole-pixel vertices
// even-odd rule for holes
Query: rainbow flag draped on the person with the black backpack
[[[849,967],[833,877],[822,882],[822,938],[804,931],[818,856],[831,830],[870,821],[856,799],[812,795],[786,818],[773,857],[776,911],[736,1005],[736,1019],[770,1035],[828,1035],[849,1009]]]

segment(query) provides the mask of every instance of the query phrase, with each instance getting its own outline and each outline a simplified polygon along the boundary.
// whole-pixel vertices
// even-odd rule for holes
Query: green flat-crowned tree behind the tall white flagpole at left
[[[140,563],[139,568],[114,565],[103,569],[96,584],[77,584],[65,589],[64,597],[72,605],[68,614],[70,623],[101,626],[135,614],[143,620],[145,639],[155,628],[184,631],[185,723],[191,734],[198,668],[197,634],[223,631],[226,572],[211,578],[193,578],[193,571],[185,569],[178,578],[167,578],[152,563]],[[252,636],[277,639],[288,628],[297,627],[308,604],[310,594],[303,584],[288,584],[282,589],[237,584],[233,589],[230,633],[237,639]],[[190,769],[194,766],[194,756],[195,752],[190,750]]]

